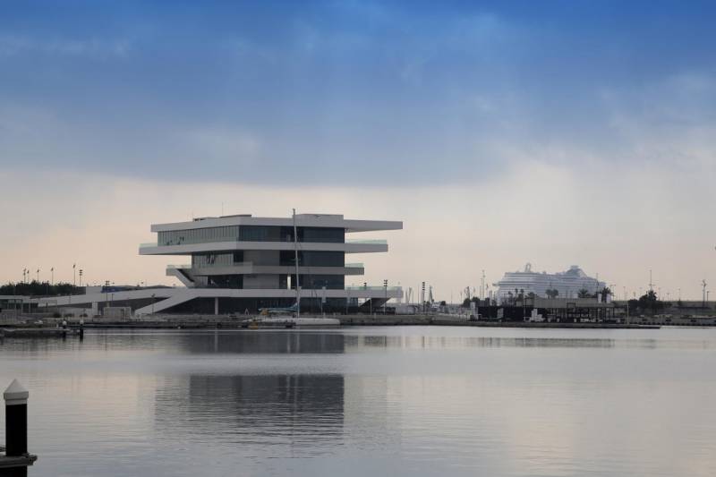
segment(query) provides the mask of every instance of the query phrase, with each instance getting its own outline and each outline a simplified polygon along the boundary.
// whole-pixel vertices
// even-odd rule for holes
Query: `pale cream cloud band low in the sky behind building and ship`
[[[390,251],[352,257],[366,266],[366,276],[355,283],[388,278],[417,290],[426,280],[447,299],[451,290],[476,284],[483,268],[493,283],[530,261],[548,271],[579,264],[617,284],[619,292],[644,286],[653,268],[665,292],[675,296],[682,287],[685,297],[698,297],[701,279],[716,279],[709,268],[716,226],[695,219],[716,200],[714,168],[686,172],[676,181],[659,164],[615,171],[601,163],[575,169],[534,158],[509,166],[490,183],[412,188],[365,188],[360,181],[276,186],[231,177],[177,183],[90,171],[4,170],[0,187],[9,200],[0,201],[0,213],[13,219],[3,229],[0,282],[16,279],[22,268],[55,266],[71,273],[76,261],[96,281],[171,284],[164,267],[175,258],[137,253],[139,243],[154,238],[149,224],[217,216],[222,209],[283,217],[295,207],[404,221],[403,231],[362,235],[387,238]]]

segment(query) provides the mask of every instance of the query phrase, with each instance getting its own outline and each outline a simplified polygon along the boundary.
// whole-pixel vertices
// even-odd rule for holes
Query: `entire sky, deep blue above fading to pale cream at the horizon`
[[[716,290],[716,4],[3,2],[0,282],[162,283],[152,223],[403,220],[363,280]],[[34,275],[33,275],[34,276]],[[348,278],[350,281],[350,277]],[[356,282],[358,283],[358,282]]]

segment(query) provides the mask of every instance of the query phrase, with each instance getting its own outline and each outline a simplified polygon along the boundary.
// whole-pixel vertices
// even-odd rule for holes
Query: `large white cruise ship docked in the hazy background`
[[[557,290],[558,298],[576,298],[580,290],[587,290],[595,294],[606,286],[597,278],[588,277],[578,265],[572,265],[567,271],[547,273],[533,271],[530,263],[524,266],[523,271],[507,272],[504,277],[493,284],[498,287],[496,292],[499,302],[506,300],[510,294],[521,293],[536,294],[547,297],[547,290]]]

